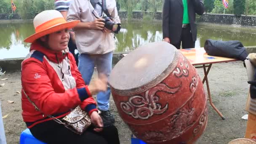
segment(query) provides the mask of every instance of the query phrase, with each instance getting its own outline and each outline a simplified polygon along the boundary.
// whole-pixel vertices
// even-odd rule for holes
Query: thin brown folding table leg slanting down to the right
[[[213,109],[221,116],[222,120],[225,120],[225,117],[221,114],[221,112],[215,107],[215,105],[213,104],[212,102],[212,99],[211,99],[211,92],[210,92],[210,87],[209,87],[209,83],[208,83],[208,73],[211,69],[211,65],[209,65],[207,71],[206,71],[206,68],[205,68],[205,64],[203,64],[203,71],[204,71],[204,74],[205,74],[205,77],[203,78],[203,80],[205,80],[206,82],[206,87],[207,87],[207,92],[208,92],[208,97],[209,97],[209,101],[210,101],[210,104],[211,106],[213,107]],[[204,82],[203,82],[204,83]]]

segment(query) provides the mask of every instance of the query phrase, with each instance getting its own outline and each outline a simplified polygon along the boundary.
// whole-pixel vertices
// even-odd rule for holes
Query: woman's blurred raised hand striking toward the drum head
[[[93,80],[89,85],[88,89],[91,92],[91,95],[95,95],[100,91],[107,91],[107,77],[106,75],[99,75],[99,78]]]

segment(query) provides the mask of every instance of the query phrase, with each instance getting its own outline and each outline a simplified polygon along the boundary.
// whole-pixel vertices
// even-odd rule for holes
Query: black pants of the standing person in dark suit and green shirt
[[[193,41],[192,33],[190,29],[190,25],[186,28],[182,28],[181,37],[179,43],[171,43],[177,49],[181,48],[181,41],[182,41],[182,48],[195,48],[195,41]]]

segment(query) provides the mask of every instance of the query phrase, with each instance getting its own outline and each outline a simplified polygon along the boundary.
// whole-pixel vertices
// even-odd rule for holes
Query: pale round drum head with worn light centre
[[[169,75],[164,72],[172,64],[176,51],[173,45],[166,42],[148,43],[136,48],[112,69],[109,85],[117,91],[122,91],[140,88],[160,75],[163,80]]]

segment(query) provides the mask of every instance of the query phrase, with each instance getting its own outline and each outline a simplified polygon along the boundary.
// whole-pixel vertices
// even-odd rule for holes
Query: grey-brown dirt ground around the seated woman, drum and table
[[[197,69],[203,76],[203,69]],[[5,135],[8,144],[19,144],[19,136],[26,126],[21,117],[21,91],[20,72],[6,72],[0,76],[0,100],[2,104]],[[208,124],[197,144],[227,144],[237,138],[243,138],[246,129],[246,120],[241,117],[245,111],[245,102],[248,93],[246,69],[243,62],[229,62],[213,64],[208,75],[213,103],[222,112],[226,120],[221,117],[209,105]],[[206,88],[206,87],[205,87]],[[14,103],[8,103],[8,100]],[[121,144],[131,144],[131,131],[118,116],[114,101],[110,101],[110,109],[116,117],[115,125],[119,131]]]

